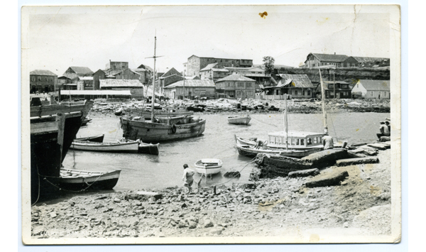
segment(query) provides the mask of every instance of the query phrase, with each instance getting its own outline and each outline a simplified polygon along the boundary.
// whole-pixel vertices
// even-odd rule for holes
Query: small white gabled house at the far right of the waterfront
[[[389,80],[359,80],[352,88],[352,98],[391,99]]]

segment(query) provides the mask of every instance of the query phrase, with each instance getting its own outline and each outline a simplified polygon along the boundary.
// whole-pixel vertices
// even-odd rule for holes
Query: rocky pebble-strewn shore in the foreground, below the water
[[[391,150],[380,150],[380,163],[322,169],[321,174],[349,175],[329,187],[305,187],[312,176],[275,177],[246,184],[232,180],[189,195],[183,187],[141,188],[38,203],[31,207],[31,236],[294,236],[312,229],[390,234],[390,155]]]

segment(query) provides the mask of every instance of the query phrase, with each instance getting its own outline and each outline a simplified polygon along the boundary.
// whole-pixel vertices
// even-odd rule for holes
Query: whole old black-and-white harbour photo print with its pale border
[[[398,243],[398,5],[23,6],[25,244]]]

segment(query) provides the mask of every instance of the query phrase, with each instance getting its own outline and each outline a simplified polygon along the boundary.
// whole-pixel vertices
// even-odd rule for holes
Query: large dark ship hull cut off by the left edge
[[[62,161],[92,105],[85,101],[31,106],[32,203],[57,194]]]

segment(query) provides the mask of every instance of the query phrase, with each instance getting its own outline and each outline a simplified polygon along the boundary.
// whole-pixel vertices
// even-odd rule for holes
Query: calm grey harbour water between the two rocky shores
[[[90,115],[89,115],[90,116]],[[194,163],[202,158],[219,158],[223,161],[221,172],[212,178],[203,177],[201,186],[219,183],[246,182],[253,164],[251,158],[239,155],[234,135],[258,137],[266,140],[268,132],[283,130],[283,114],[251,114],[249,126],[228,124],[229,114],[200,115],[206,119],[202,136],[180,141],[160,143],[159,155],[138,153],[97,153],[69,150],[63,165],[68,169],[109,171],[121,169],[119,182],[114,190],[159,190],[182,186],[182,165],[187,163],[195,170]],[[327,114],[329,134],[334,141],[366,143],[376,141],[379,121],[390,117],[386,113],[338,113]],[[80,128],[77,138],[104,134],[104,142],[116,142],[122,137],[119,116],[91,116],[92,121]],[[288,114],[289,131],[322,132],[322,114]],[[224,177],[229,170],[241,170],[239,179]],[[200,175],[194,176],[198,181]],[[228,182],[229,181],[229,182]]]

